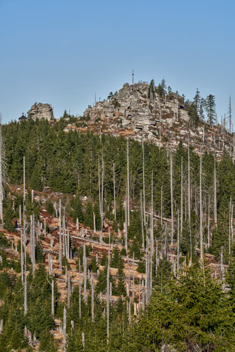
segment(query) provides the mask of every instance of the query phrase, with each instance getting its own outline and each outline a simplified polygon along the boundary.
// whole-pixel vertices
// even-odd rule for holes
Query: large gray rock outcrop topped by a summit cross
[[[158,133],[159,122],[167,123],[168,127],[176,122],[188,122],[188,111],[182,107],[177,95],[172,93],[171,99],[164,101],[157,93],[148,98],[149,86],[137,83],[123,87],[110,100],[97,102],[94,107],[84,111],[84,118],[95,123],[106,121],[112,127],[118,123],[119,128],[133,129],[146,136],[152,132]],[[156,130],[156,131],[154,131]]]

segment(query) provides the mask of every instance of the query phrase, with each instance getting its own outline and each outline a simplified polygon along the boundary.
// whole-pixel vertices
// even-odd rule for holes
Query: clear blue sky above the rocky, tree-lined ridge
[[[219,118],[231,94],[235,116],[234,17],[232,0],[0,0],[3,122],[34,102],[82,114],[132,69],[189,99],[214,94]]]

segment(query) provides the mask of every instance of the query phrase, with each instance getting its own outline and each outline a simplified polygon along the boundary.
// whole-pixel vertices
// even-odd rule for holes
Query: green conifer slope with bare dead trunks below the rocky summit
[[[67,124],[2,126],[0,352],[235,351],[233,157]]]

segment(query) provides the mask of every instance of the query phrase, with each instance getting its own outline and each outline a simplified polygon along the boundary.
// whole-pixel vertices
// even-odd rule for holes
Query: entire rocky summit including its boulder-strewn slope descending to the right
[[[235,158],[234,136],[224,127],[199,123],[196,127],[181,96],[171,93],[160,97],[157,93],[148,98],[149,85],[144,83],[123,87],[109,100],[97,102],[84,111],[80,121],[68,125],[65,132],[79,130],[129,136],[138,141],[148,141],[175,150],[180,141],[200,153],[208,151],[220,158],[226,150]],[[183,103],[183,104],[182,104]]]

